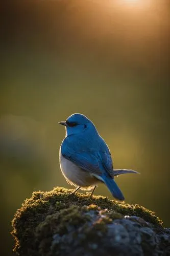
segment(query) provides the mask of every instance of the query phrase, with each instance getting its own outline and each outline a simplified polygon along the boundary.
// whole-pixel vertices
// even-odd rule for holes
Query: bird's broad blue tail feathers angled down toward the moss
[[[122,191],[119,189],[119,187],[117,186],[116,182],[111,177],[102,176],[102,178],[106,186],[109,188],[112,196],[117,200],[124,201],[125,200],[124,195]]]

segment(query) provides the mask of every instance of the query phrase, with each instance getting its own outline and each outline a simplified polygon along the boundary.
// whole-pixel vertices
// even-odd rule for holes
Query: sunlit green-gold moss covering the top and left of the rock
[[[70,225],[75,227],[72,236],[77,238],[77,229],[82,227],[84,236],[79,241],[82,239],[82,243],[86,243],[88,234],[88,241],[95,247],[96,242],[99,244],[102,234],[107,231],[106,223],[124,218],[125,215],[140,217],[155,226],[162,225],[154,212],[142,206],[110,201],[102,196],[89,199],[88,194],[71,194],[71,191],[57,187],[49,192],[34,192],[30,199],[26,199],[12,221],[15,251],[24,256],[46,255],[45,250],[52,244],[53,236],[56,233],[58,236],[68,233]],[[91,227],[89,223],[96,215],[98,220]],[[58,246],[61,250],[61,244],[55,241],[55,251]],[[54,254],[49,252],[48,255]]]

